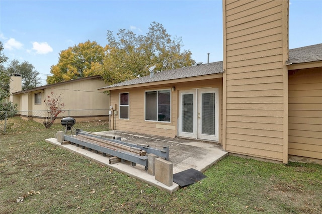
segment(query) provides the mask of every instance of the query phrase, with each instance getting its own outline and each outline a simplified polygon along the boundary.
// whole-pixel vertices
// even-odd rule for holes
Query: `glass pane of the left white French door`
[[[182,131],[193,133],[193,94],[182,95]]]

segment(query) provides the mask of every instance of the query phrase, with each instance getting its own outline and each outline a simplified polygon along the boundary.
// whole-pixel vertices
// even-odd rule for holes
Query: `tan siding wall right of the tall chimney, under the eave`
[[[289,154],[322,159],[322,68],[289,73]]]

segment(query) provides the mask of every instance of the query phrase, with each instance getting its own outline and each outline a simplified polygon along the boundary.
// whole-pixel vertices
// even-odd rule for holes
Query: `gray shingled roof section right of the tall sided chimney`
[[[289,60],[292,64],[322,61],[322,44],[290,49]]]

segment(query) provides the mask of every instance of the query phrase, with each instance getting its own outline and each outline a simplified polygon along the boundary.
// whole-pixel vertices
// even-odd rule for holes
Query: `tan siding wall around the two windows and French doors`
[[[171,89],[175,87],[176,90],[171,92],[171,122],[151,122],[144,120],[144,91],[145,90],[160,90],[160,89]],[[152,134],[157,136],[165,137],[176,137],[177,136],[177,120],[178,120],[178,94],[180,90],[188,90],[192,88],[205,88],[213,87],[219,88],[220,102],[222,99],[222,78],[194,81],[194,82],[183,82],[163,85],[160,87],[149,86],[134,89],[124,90],[113,90],[110,92],[111,105],[117,104],[117,110],[119,110],[119,93],[129,93],[129,108],[130,115],[129,119],[119,119],[118,116],[111,117],[111,125],[114,129],[131,131],[137,133]],[[219,114],[221,114],[221,109]],[[221,125],[221,122],[219,122]]]

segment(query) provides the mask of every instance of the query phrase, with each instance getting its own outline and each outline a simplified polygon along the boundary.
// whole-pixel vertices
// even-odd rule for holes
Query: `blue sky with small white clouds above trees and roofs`
[[[222,60],[222,1],[0,1],[0,41],[9,61],[28,61],[45,84],[59,53],[107,30],[145,35],[152,22],[181,37],[196,62]],[[289,48],[322,43],[322,1],[290,0]]]

